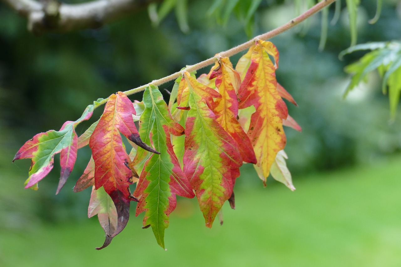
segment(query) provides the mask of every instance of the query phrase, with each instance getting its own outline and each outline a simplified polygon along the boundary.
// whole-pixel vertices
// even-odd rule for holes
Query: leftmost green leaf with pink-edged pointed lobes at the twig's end
[[[36,190],[38,188],[37,183],[53,169],[55,154],[60,153],[61,174],[56,194],[60,192],[73,170],[77,158],[78,144],[75,127],[82,121],[89,119],[93,110],[102,101],[103,99],[94,101],[92,105],[87,106],[79,119],[65,122],[60,131],[49,130],[45,133],[36,134],[18,150],[14,160],[32,159],[25,188],[33,186],[33,189]]]

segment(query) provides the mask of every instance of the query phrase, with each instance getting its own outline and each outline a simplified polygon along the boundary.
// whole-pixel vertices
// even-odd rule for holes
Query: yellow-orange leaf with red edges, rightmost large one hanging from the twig
[[[246,65],[244,62],[250,60],[238,90],[239,108],[255,107],[247,135],[260,168],[259,177],[265,182],[277,153],[286,145],[283,119],[287,118],[288,111],[277,92],[275,65],[269,59],[269,55],[273,55],[278,65],[277,49],[271,42],[259,40],[249,51],[252,53],[248,52],[244,55],[245,59],[239,61]],[[241,71],[244,73],[245,69]]]

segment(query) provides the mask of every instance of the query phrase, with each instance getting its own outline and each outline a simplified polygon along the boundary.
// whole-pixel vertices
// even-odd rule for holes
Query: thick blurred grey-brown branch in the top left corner
[[[57,0],[0,0],[28,19],[34,34],[69,32],[117,20],[157,0],[95,0],[64,4]]]

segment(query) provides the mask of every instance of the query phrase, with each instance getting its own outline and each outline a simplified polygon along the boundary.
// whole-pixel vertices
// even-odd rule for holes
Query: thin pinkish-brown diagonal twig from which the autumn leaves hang
[[[266,32],[264,34],[258,35],[255,38],[244,42],[243,44],[240,44],[236,47],[233,47],[227,51],[221,52],[219,54],[217,54],[217,56],[211,57],[210,59],[204,60],[202,62],[199,62],[195,65],[190,65],[187,66],[185,69],[182,69],[181,71],[177,71],[176,73],[173,73],[171,75],[168,75],[162,79],[158,79],[158,80],[154,80],[151,83],[148,83],[146,85],[142,85],[140,87],[134,88],[134,89],[130,89],[128,91],[125,91],[124,93],[126,95],[132,95],[134,93],[138,93],[140,91],[144,91],[145,88],[147,86],[149,86],[150,84],[155,85],[155,86],[159,86],[162,85],[163,83],[167,83],[168,81],[172,81],[174,79],[177,79],[178,77],[182,76],[182,73],[184,73],[184,71],[196,71],[198,69],[202,69],[203,67],[207,67],[209,65],[212,65],[213,63],[215,63],[216,61],[219,60],[220,57],[231,57],[235,54],[240,53],[241,51],[244,51],[245,49],[248,49],[249,47],[252,46],[252,44],[255,43],[255,41],[257,40],[267,40],[270,39],[274,36],[277,36],[283,32],[285,32],[286,30],[289,30],[290,28],[298,25],[300,22],[306,20],[307,18],[309,18],[310,16],[312,16],[313,14],[315,14],[316,12],[319,12],[320,10],[322,10],[323,8],[325,8],[326,6],[332,4],[333,2],[335,2],[336,0],[323,0],[321,2],[319,2],[318,4],[314,5],[312,8],[310,8],[309,10],[307,10],[306,12],[304,12],[303,14],[301,14],[300,16],[293,18],[292,20],[290,20],[289,22],[287,22],[286,24],[279,26],[278,28],[275,28],[274,30],[271,30],[269,32]]]

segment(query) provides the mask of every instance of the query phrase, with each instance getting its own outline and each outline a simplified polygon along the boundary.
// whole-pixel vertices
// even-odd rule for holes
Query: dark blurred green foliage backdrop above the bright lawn
[[[229,7],[213,6],[217,2],[188,2],[187,34],[180,30],[181,22],[177,22],[174,13],[164,14],[154,27],[149,11],[144,9],[98,29],[40,37],[27,32],[24,18],[0,4],[0,227],[12,225],[3,221],[15,210],[20,214],[16,214],[15,221],[23,221],[21,218],[32,214],[49,221],[73,220],[86,213],[90,192],[73,194],[69,190],[83,172],[85,161],[76,163],[57,197],[54,196],[59,178],[57,168],[41,182],[38,192],[23,190],[29,161],[11,165],[11,160],[34,134],[59,129],[64,121],[77,119],[99,97],[146,84],[246,41],[247,19],[254,34],[261,34],[297,15],[294,1],[261,1],[259,8],[253,10],[252,1],[242,0],[246,8],[234,7],[231,11],[235,16],[224,15]],[[376,2],[362,1],[356,10],[358,41],[399,39],[401,22],[397,4],[400,6],[395,0],[384,2],[381,18],[370,25],[368,20],[375,16]],[[342,6],[346,6],[345,1]],[[335,5],[328,9],[329,20],[334,17],[335,9]],[[160,7],[156,10],[161,12]],[[344,8],[340,13],[338,22],[328,26],[322,52],[318,51],[321,15],[308,19],[307,31],[300,24],[271,40],[281,53],[277,80],[300,106],[291,106],[290,114],[303,132],[286,129],[288,166],[295,186],[297,176],[302,173],[361,161],[375,162],[380,156],[401,149],[401,116],[388,123],[387,100],[376,90],[381,86],[377,73],[369,73],[364,88],[354,89],[342,100],[349,83],[343,68],[364,53],[356,51],[344,61],[338,60],[338,53],[350,43],[348,13]],[[248,18],[248,14],[252,15]],[[225,26],[211,18],[221,19]],[[232,61],[240,56],[236,55]],[[198,74],[208,71],[204,69]],[[173,83],[164,88],[171,90]],[[164,96],[168,99],[168,93]],[[142,93],[131,98],[141,99]],[[78,133],[97,119],[101,111],[96,112],[93,120],[79,125]],[[87,149],[79,153],[89,160]],[[244,166],[244,171],[253,172],[249,167]],[[237,188],[248,182],[238,179]],[[259,186],[256,174],[254,183]],[[10,202],[18,208],[6,208],[9,204],[3,204]],[[27,215],[21,217],[21,214]]]

